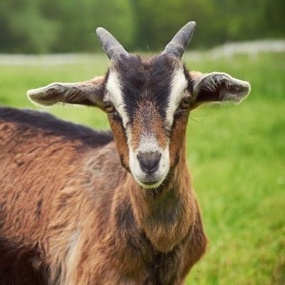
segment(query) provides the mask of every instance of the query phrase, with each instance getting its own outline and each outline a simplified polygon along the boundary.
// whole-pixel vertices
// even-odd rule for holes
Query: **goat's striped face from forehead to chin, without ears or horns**
[[[144,188],[158,187],[177,163],[181,147],[171,136],[179,125],[175,140],[183,142],[191,88],[174,56],[120,56],[110,66],[103,105],[122,164]]]

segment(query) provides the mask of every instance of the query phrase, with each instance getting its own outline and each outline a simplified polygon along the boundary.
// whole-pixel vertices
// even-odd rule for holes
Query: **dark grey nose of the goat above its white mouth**
[[[147,174],[157,171],[160,166],[160,152],[139,152],[137,157],[141,170]]]

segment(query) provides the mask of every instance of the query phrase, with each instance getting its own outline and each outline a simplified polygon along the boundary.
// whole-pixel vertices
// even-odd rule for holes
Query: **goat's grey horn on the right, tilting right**
[[[176,33],[176,35],[172,38],[170,43],[165,46],[165,50],[162,52],[162,54],[172,54],[177,58],[181,58],[185,49],[190,43],[195,26],[196,23],[192,21],[181,28],[180,31],[178,31],[178,33]]]

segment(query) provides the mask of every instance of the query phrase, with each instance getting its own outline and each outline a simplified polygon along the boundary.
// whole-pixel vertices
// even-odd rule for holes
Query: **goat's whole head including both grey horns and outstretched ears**
[[[239,103],[249,83],[227,73],[188,72],[181,56],[195,23],[186,24],[154,58],[130,55],[98,28],[111,60],[106,76],[81,83],[52,83],[28,91],[40,105],[95,105],[108,113],[122,165],[144,188],[159,187],[180,160],[190,110],[205,102]]]

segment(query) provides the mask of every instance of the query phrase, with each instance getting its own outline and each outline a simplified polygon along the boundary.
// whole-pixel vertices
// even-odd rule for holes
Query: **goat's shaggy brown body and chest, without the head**
[[[147,218],[156,236],[147,232],[109,133],[0,108],[0,162],[0,284],[182,284],[204,252],[191,189],[190,212],[170,191],[165,202],[147,193],[160,211]]]

